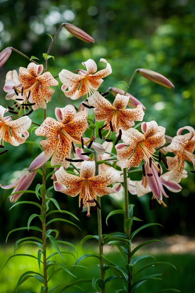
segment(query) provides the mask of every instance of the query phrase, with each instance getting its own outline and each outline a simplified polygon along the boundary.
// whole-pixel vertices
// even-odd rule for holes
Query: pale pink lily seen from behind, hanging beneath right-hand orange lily
[[[159,204],[163,204],[163,206],[166,207],[166,204],[163,202],[163,195],[165,197],[169,196],[163,186],[172,192],[179,192],[182,188],[178,183],[168,179],[167,173],[169,172],[160,175],[161,168],[160,172],[159,168],[160,167],[156,166],[156,163],[153,162],[151,167],[149,167],[149,164],[146,164],[145,174],[142,176],[142,180],[129,180],[128,190],[132,194],[137,194],[138,197],[153,192],[152,200],[156,199]]]

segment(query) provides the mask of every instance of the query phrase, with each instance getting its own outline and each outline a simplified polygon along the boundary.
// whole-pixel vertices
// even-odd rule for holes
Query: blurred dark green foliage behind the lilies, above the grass
[[[84,43],[72,37],[62,29],[50,54],[55,56],[48,61],[48,70],[58,75],[63,68],[73,70],[83,68],[81,62],[94,59],[98,68],[100,58],[105,58],[112,65],[113,73],[104,79],[99,88],[105,92],[109,86],[125,88],[136,68],[155,70],[175,84],[170,90],[154,84],[141,76],[134,80],[129,92],[146,106],[144,121],[156,120],[158,125],[166,127],[166,134],[176,135],[179,127],[195,126],[195,2],[194,0],[0,0],[0,50],[12,46],[28,56],[36,56],[44,63],[42,53],[47,51],[50,37],[54,35],[62,22],[71,22],[89,33],[96,40],[94,44]],[[8,70],[27,67],[28,60],[12,52],[9,60],[0,68],[0,105],[13,105],[4,99],[3,85]],[[58,99],[58,100],[57,100]],[[48,113],[54,117],[54,107],[65,106],[71,100],[65,99],[60,90],[56,90],[52,102],[48,104]],[[79,101],[80,102],[80,101]],[[78,102],[78,103],[79,103]],[[41,123],[42,109],[33,113]],[[32,118],[32,117],[31,117]],[[39,143],[40,138],[34,138]],[[6,144],[8,152],[0,156],[0,183],[8,184],[18,178],[39,154],[39,149],[32,145],[13,147]],[[188,171],[193,166],[186,164]],[[17,172],[16,172],[17,171]],[[36,176],[33,189],[40,181]],[[52,181],[51,181],[52,184]],[[189,172],[182,181],[180,193],[171,193],[168,208],[156,205],[149,210],[150,195],[141,199],[131,196],[131,203],[136,204],[135,215],[145,222],[156,221],[164,229],[147,230],[142,236],[183,234],[195,236],[195,174]],[[32,212],[29,207],[19,206],[9,211],[9,190],[0,190],[0,242],[4,243],[9,230],[26,226]],[[61,209],[77,213],[78,199],[64,194],[53,195]],[[23,199],[33,199],[31,194]],[[75,202],[76,200],[76,202]],[[121,198],[110,196],[102,198],[102,217],[113,209],[123,206]],[[88,233],[97,233],[96,214],[86,218],[79,214],[81,233],[73,228],[58,225],[60,236],[66,234],[78,240]],[[36,225],[36,221],[34,220]],[[54,224],[55,225],[55,224]],[[110,221],[103,232],[121,230],[118,218]],[[145,232],[146,233],[146,232]],[[23,234],[19,233],[18,238]],[[14,239],[15,235],[13,235]],[[11,237],[10,237],[11,238]],[[12,239],[12,238],[11,238]]]

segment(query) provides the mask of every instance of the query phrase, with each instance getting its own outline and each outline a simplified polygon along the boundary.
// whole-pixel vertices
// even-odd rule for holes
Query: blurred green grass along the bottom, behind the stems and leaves
[[[29,253],[32,255],[37,255],[37,248],[34,246],[23,246],[20,248],[17,253]],[[49,248],[48,254],[53,253],[54,251]],[[87,278],[93,279],[94,276],[99,277],[99,269],[98,269],[98,258],[96,257],[87,257],[78,265],[82,267],[78,267],[76,270],[71,265],[74,265],[75,258],[73,256],[73,251],[69,251],[69,253],[64,254],[65,260],[59,257],[59,255],[55,255],[53,259],[56,262],[63,263],[68,270],[70,270],[73,274],[76,274],[78,278]],[[147,251],[148,252],[148,251]],[[81,248],[78,246],[78,256],[81,256],[85,253],[94,253],[92,246],[87,246],[85,248]],[[144,251],[145,254],[145,251]],[[148,253],[146,253],[148,254]],[[13,247],[10,246],[1,246],[0,247],[0,263],[1,266],[5,264],[8,258],[13,255]],[[154,255],[154,254],[153,254]],[[121,255],[117,251],[111,251],[106,253],[106,257],[109,258],[114,263],[123,264],[121,259]],[[164,261],[172,263],[177,270],[175,270],[172,266],[169,265],[156,265],[151,267],[150,269],[144,270],[138,274],[138,277],[142,277],[145,274],[154,274],[154,273],[162,273],[162,280],[152,280],[145,282],[142,286],[140,286],[136,293],[152,293],[157,290],[162,290],[165,288],[175,288],[180,290],[182,293],[193,293],[195,288],[195,255],[184,253],[184,254],[156,254],[155,255],[157,261]],[[77,256],[76,256],[77,258]],[[147,264],[149,259],[139,261],[139,265]],[[150,261],[153,261],[150,259]],[[144,263],[145,262],[145,263]],[[84,266],[84,267],[83,267]],[[86,267],[86,268],[85,268]],[[90,269],[87,269],[90,267]],[[53,267],[49,269],[49,275],[53,272]],[[138,270],[138,268],[137,268]],[[14,293],[17,282],[20,276],[26,271],[35,271],[40,272],[39,265],[36,259],[27,256],[14,256],[11,258],[5,267],[0,272],[0,293]],[[109,272],[107,272],[108,274]],[[110,272],[111,273],[111,272]],[[107,277],[107,276],[106,276]],[[71,276],[63,269],[60,270],[57,274],[53,276],[53,278],[49,281],[49,290],[56,286],[59,283],[68,283],[71,281],[75,281],[78,278]],[[65,285],[64,285],[65,286]],[[84,288],[85,292],[93,292],[93,288],[90,283],[85,283],[81,285]],[[117,289],[120,289],[119,280],[113,280],[106,287],[106,293],[115,293]],[[77,291],[76,291],[77,290]],[[27,279],[21,286],[19,287],[17,293],[25,292],[25,291],[33,291],[36,293],[40,292],[40,282],[34,278],[30,277]],[[67,289],[65,292],[80,292],[79,287],[73,287]],[[166,291],[167,293],[169,291]],[[59,288],[53,291],[53,293],[59,293]]]

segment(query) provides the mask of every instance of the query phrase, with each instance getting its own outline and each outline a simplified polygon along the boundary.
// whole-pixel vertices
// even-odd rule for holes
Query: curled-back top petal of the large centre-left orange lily
[[[63,108],[56,108],[55,115],[59,122],[67,124],[75,118],[76,110],[73,105],[66,105]]]

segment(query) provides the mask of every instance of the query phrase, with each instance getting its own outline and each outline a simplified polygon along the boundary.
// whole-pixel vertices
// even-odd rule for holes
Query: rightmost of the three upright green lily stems
[[[127,186],[127,168],[123,169],[123,178],[124,178],[124,193],[125,193],[125,220],[129,219],[129,194],[128,194],[128,186]],[[131,228],[127,228],[126,230],[127,239],[131,239]],[[127,261],[128,264],[131,263],[131,246],[129,245],[129,249],[127,252]],[[128,293],[131,293],[132,286],[132,272],[128,273]]]

